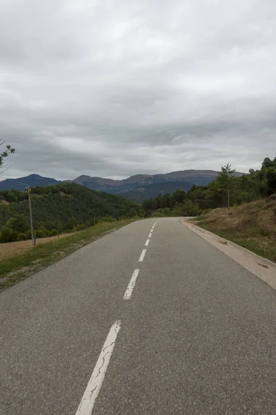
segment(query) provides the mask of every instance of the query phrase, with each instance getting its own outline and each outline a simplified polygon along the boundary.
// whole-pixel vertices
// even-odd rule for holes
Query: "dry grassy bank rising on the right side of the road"
[[[276,262],[276,201],[263,199],[200,218],[202,228]]]

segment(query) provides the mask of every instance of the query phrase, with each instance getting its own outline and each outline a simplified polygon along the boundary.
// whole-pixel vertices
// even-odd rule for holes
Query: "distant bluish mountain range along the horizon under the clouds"
[[[244,173],[236,172],[237,176]],[[27,186],[44,187],[58,183],[77,183],[91,190],[119,194],[132,201],[142,202],[154,198],[160,193],[172,194],[177,189],[188,192],[193,185],[208,185],[215,179],[214,170],[181,170],[167,174],[137,174],[124,180],[112,178],[79,176],[72,181],[57,181],[55,178],[42,177],[38,174],[19,178],[7,178],[0,182],[0,190],[24,190]]]

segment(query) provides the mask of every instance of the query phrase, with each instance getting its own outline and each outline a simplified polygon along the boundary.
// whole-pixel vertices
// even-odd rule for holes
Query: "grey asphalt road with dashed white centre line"
[[[275,291],[156,221],[1,293],[1,415],[276,414]]]

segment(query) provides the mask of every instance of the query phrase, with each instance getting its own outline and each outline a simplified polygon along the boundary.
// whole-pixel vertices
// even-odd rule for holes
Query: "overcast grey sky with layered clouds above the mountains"
[[[276,156],[275,0],[1,0],[7,177]]]

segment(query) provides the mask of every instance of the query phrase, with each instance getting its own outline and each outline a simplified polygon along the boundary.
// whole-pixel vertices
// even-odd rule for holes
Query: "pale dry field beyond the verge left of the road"
[[[59,238],[70,237],[72,233],[61,234]],[[48,237],[48,238],[39,238],[37,239],[37,245],[41,243],[46,243],[50,241],[56,241],[57,237]],[[8,259],[16,257],[19,254],[23,254],[27,250],[32,248],[32,241],[19,241],[19,242],[10,242],[10,243],[0,243],[0,261],[3,259]]]

